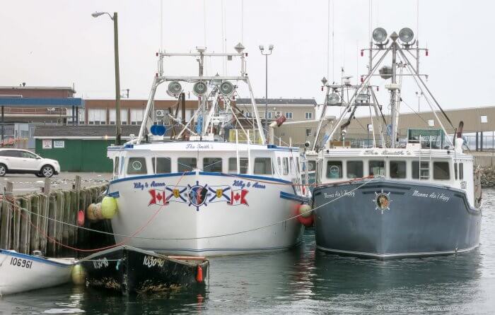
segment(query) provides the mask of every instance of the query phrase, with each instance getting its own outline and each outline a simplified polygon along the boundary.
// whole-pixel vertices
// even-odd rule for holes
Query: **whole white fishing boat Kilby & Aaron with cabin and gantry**
[[[107,151],[115,165],[108,196],[118,206],[112,218],[116,242],[211,256],[287,249],[301,240],[303,226],[293,217],[310,194],[299,185],[299,149],[267,143],[245,72],[247,54],[242,44],[235,49],[158,53],[139,135]],[[197,59],[199,76],[165,76],[163,58],[175,56]],[[204,76],[204,57],[239,58],[240,75]],[[157,117],[153,98],[162,83],[179,97],[177,109],[184,99],[181,83],[194,84],[198,109],[189,121],[178,118],[178,110]],[[235,106],[238,84],[248,86],[253,117]],[[181,130],[165,136],[168,121]]]

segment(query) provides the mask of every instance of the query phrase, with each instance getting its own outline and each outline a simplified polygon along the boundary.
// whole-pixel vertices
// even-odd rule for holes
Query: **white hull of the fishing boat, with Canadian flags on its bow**
[[[206,187],[204,203],[191,203],[194,186]],[[153,189],[168,203],[151,202]],[[173,189],[178,189],[178,198]],[[222,194],[217,196],[219,190]],[[164,254],[218,256],[286,249],[297,244],[303,232],[297,219],[272,225],[296,215],[301,201],[290,182],[269,177],[209,172],[146,175],[111,182],[109,194],[118,194],[119,210],[112,218],[113,232],[121,235],[116,242]],[[231,204],[236,194],[237,201]],[[264,228],[254,230],[259,227]],[[139,230],[132,239],[122,236]],[[252,231],[237,234],[246,230]]]

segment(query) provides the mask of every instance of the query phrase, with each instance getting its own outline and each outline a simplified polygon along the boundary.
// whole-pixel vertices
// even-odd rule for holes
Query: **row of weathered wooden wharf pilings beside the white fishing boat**
[[[12,183],[7,182],[0,200],[0,248],[23,254],[42,251],[51,257],[77,254],[61,244],[91,248],[90,237],[99,235],[78,229],[78,211],[82,210],[86,216],[86,208],[100,202],[106,189],[107,184],[82,188],[81,177],[76,176],[71,190],[52,191],[47,179],[42,193],[13,196]],[[85,220],[85,227],[91,228],[91,225],[92,222]],[[110,227],[110,224],[105,222],[103,226]],[[102,239],[108,241],[108,237]]]

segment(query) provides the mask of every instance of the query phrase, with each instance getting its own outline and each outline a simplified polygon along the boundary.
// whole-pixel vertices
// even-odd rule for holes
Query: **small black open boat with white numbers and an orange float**
[[[79,261],[91,287],[129,293],[202,286],[209,261],[204,257],[164,256],[132,246],[117,246]]]

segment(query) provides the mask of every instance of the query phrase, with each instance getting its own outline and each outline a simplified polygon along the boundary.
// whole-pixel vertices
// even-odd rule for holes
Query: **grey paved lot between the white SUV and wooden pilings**
[[[52,189],[71,189],[76,175],[81,176],[83,187],[105,183],[112,177],[111,173],[61,172],[51,178]],[[1,191],[4,191],[4,186],[8,181],[13,182],[13,193],[16,195],[40,192],[41,187],[45,186],[45,179],[33,174],[6,174],[5,177],[0,177]]]

